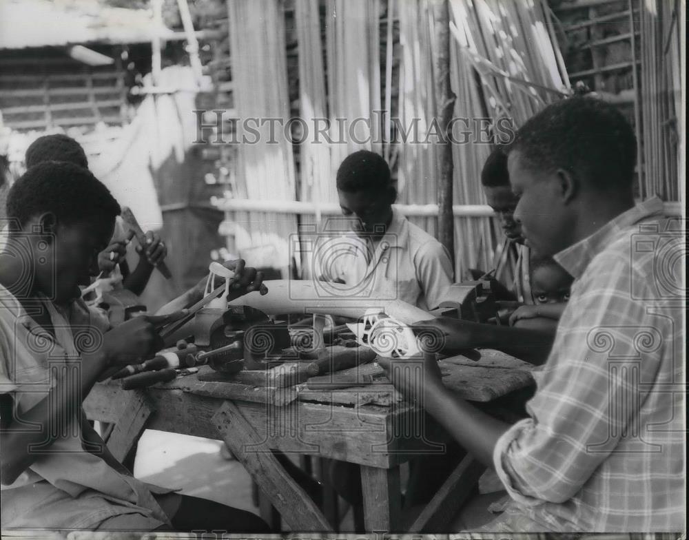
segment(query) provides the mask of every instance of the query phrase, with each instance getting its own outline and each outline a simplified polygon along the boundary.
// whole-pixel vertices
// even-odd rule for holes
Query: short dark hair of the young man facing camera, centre
[[[338,168],[337,186],[341,191],[354,193],[367,191],[371,194],[383,193],[391,182],[390,167],[375,152],[359,150],[349,154]]]

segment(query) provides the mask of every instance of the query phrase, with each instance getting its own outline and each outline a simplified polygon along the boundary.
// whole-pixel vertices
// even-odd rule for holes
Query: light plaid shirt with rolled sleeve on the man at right
[[[648,200],[555,256],[572,295],[530,417],[493,459],[533,531],[684,530],[686,247],[662,208]]]

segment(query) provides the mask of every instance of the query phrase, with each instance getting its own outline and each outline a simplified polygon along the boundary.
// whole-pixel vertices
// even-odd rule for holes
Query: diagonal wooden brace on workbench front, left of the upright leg
[[[232,402],[225,402],[212,418],[225,444],[241,461],[292,530],[324,532],[332,527],[307,492],[280,465],[271,452],[247,450],[260,436]]]

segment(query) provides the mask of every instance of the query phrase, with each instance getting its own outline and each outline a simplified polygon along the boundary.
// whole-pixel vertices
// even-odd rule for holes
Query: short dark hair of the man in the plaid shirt
[[[508,152],[527,166],[564,169],[601,191],[629,190],[634,179],[634,130],[614,105],[574,96],[548,105],[517,131]]]

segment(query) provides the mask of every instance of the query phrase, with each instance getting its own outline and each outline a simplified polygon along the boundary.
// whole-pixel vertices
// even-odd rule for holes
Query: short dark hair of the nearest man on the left
[[[45,212],[55,214],[61,223],[100,226],[114,222],[120,205],[88,169],[48,161],[28,169],[12,185],[7,197],[7,217],[21,227]]]

